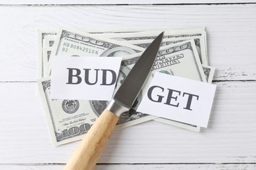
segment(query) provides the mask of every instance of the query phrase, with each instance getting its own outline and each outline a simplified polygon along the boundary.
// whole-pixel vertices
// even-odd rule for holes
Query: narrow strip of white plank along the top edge
[[[225,4],[225,3],[255,3],[255,0],[246,1],[246,0],[196,0],[196,1],[188,1],[188,0],[181,0],[181,1],[168,1],[168,0],[160,0],[160,1],[152,1],[152,0],[129,0],[125,1],[117,1],[117,0],[111,0],[111,1],[102,1],[102,0],[95,0],[95,1],[83,1],[83,0],[20,0],[20,1],[8,1],[8,0],[1,0],[0,5],[121,5],[121,4],[129,4],[129,5],[144,5],[144,4]]]

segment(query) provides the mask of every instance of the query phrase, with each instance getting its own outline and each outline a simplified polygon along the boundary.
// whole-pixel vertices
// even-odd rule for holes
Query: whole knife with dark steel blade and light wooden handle
[[[146,48],[117,90],[108,107],[100,114],[95,124],[83,137],[64,169],[94,169],[108,143],[108,139],[110,139],[111,133],[116,127],[119,116],[131,109],[144,82],[148,78],[162,39],[163,32]]]

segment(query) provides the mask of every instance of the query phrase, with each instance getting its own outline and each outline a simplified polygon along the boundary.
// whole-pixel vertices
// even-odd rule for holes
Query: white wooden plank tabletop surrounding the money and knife
[[[117,4],[117,5],[116,5]],[[37,29],[205,26],[217,92],[200,133],[159,122],[114,131],[96,169],[256,169],[256,1],[0,1],[0,169],[62,169],[35,93]]]

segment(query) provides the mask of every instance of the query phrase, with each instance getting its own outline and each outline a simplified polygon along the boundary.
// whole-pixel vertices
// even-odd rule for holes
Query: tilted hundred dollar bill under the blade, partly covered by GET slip
[[[128,67],[128,70],[132,69],[133,65],[135,65],[140,55],[141,54],[133,54],[131,56],[126,56],[125,58],[123,58],[121,65],[123,67]],[[184,68],[186,69],[184,70]],[[150,73],[150,76],[144,84],[144,87],[142,88],[139,97],[135,101],[135,105],[133,105],[133,108],[129,112],[121,114],[119,118],[119,124],[117,124],[117,128],[127,127],[134,124],[139,124],[141,122],[145,122],[147,120],[156,119],[155,116],[150,116],[148,114],[143,114],[136,111],[142,99],[142,96],[144,95],[144,93],[146,93],[146,89],[150,84],[150,81],[154,77],[154,73],[156,72],[183,76],[185,78],[206,82],[206,78],[203,73],[203,67],[200,63],[200,58],[196,50],[196,44],[193,40],[161,47],[158,52],[158,56],[154,63],[153,69]],[[104,106],[106,107],[106,105]],[[102,111],[103,109],[99,110],[98,114],[100,114]],[[181,125],[182,123],[180,123],[180,126]],[[194,131],[198,131],[198,129],[200,129],[200,127],[198,126],[188,124],[182,127],[186,127],[186,129],[192,129]]]

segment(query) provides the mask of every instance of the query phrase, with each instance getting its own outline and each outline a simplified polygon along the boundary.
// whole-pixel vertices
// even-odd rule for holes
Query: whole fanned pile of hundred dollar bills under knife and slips
[[[211,83],[214,67],[208,65],[204,27],[167,27],[157,29],[70,29],[38,31],[38,93],[54,145],[82,139],[109,101],[51,99],[51,58],[121,57],[117,78],[118,88],[142,52],[162,31],[163,41],[154,63],[155,72],[182,76]],[[133,108],[119,118],[116,128],[133,126],[149,120],[158,121],[192,131],[200,127],[137,112],[145,89],[142,88]],[[65,92],[63,92],[65,93]]]

